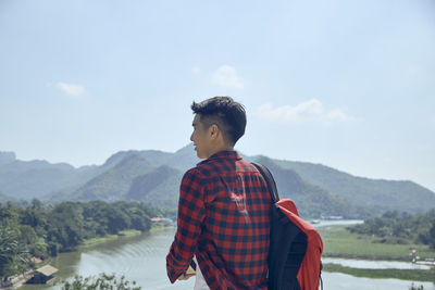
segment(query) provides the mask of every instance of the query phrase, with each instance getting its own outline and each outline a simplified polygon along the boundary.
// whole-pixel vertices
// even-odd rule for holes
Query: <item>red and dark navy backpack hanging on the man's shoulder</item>
[[[323,252],[318,230],[299,217],[290,199],[279,200],[275,180],[264,165],[252,163],[268,182],[272,197],[269,250],[269,290],[315,290],[321,279]]]

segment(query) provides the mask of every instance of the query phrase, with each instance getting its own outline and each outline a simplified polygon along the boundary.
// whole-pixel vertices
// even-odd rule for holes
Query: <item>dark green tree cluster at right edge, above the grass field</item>
[[[393,244],[421,243],[435,250],[435,209],[421,214],[386,212],[348,227],[350,232],[376,237],[377,242]]]

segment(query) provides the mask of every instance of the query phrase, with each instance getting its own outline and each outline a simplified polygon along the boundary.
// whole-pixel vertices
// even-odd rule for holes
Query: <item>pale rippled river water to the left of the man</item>
[[[152,235],[121,238],[80,252],[60,254],[51,265],[60,269],[57,276],[61,279],[73,277],[74,274],[87,277],[115,273],[125,275],[127,280],[135,280],[144,290],[194,289],[195,278],[171,285],[166,277],[165,256],[174,232],[174,229],[167,229]],[[20,290],[60,288],[26,285]]]

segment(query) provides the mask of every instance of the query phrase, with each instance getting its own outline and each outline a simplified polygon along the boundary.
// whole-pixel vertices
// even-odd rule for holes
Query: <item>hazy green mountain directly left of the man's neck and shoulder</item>
[[[199,160],[192,146],[175,153],[121,151],[110,156],[94,178],[75,190],[58,192],[54,199],[136,200],[156,206],[175,207],[183,173],[197,162]],[[139,186],[142,188],[139,189]]]

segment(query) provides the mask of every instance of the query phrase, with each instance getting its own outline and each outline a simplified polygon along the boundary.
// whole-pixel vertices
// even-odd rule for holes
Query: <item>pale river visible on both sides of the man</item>
[[[323,222],[319,226],[355,223],[339,220]],[[127,280],[135,280],[142,290],[159,289],[192,289],[195,278],[187,281],[177,281],[171,285],[166,277],[165,255],[173,240],[174,229],[144,234],[133,238],[120,238],[86,250],[60,254],[51,264],[59,268],[58,277],[67,279],[75,274],[82,276],[98,275],[99,273],[125,275]],[[341,261],[343,262],[343,261]],[[346,263],[346,262],[345,262]],[[366,261],[352,260],[353,266]],[[396,262],[389,262],[395,265]],[[397,267],[403,267],[401,262]],[[369,264],[370,265],[370,264]],[[332,290],[365,290],[365,289],[409,289],[412,281],[398,279],[357,278],[339,273],[322,273],[324,289]],[[431,282],[415,282],[423,285],[425,290],[435,290]],[[26,285],[20,290],[60,289],[59,286]]]

